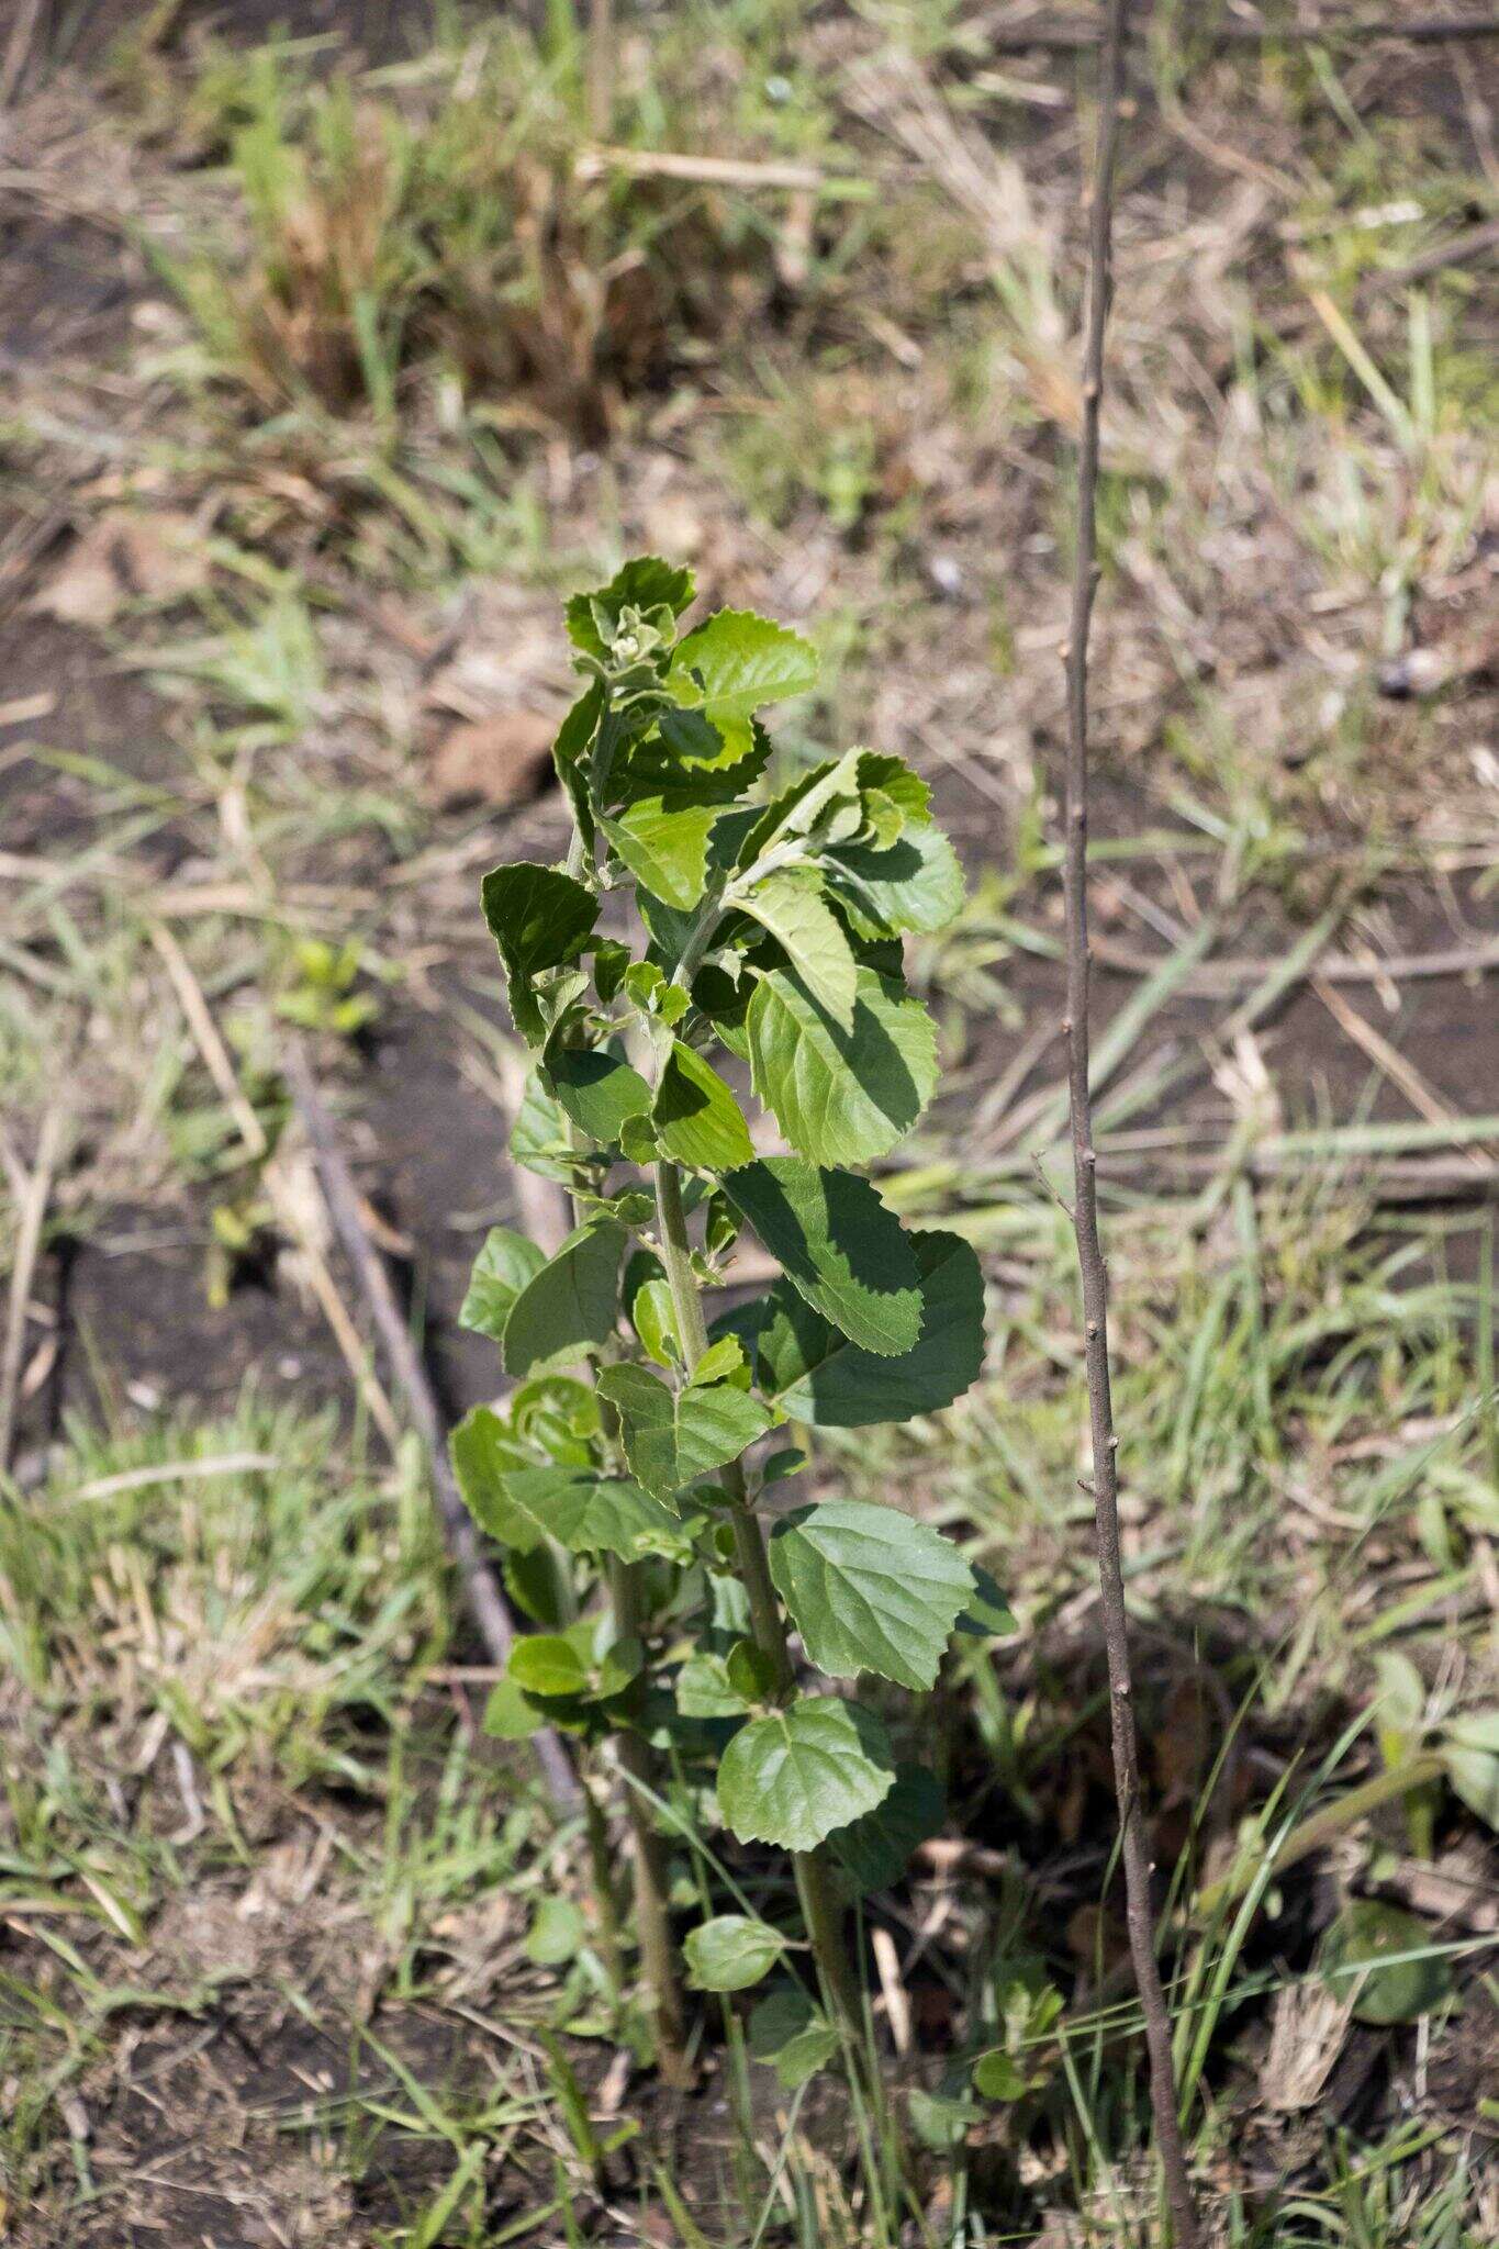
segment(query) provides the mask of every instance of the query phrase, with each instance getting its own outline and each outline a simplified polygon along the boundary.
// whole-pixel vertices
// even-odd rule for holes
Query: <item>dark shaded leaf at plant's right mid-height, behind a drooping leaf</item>
[[[921,1331],[910,1352],[861,1352],[809,1302],[775,1286],[760,1327],[760,1385],[793,1421],[867,1428],[939,1412],[984,1365],[984,1277],[957,1235],[908,1235],[921,1289]]]

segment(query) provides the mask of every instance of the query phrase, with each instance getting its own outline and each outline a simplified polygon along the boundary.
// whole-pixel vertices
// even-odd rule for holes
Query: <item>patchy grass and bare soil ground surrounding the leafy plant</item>
[[[1061,1181],[1045,821],[1081,81],[946,18],[892,58],[863,20],[755,7],[699,70],[701,22],[654,47],[654,16],[618,13],[609,135],[542,56],[499,234],[463,202],[494,175],[492,72],[515,54],[535,85],[521,34],[465,81],[472,27],[420,9],[220,11],[209,47],[205,11],[160,11],[146,49],[110,47],[137,25],[101,9],[72,56],[38,45],[13,112],[0,787],[36,866],[4,870],[7,1154],[25,1169],[58,1091],[72,1131],[0,1514],[2,2191],[34,2249],[694,2249],[692,2224],[748,2240],[746,2202],[771,2240],[867,2238],[836,2094],[755,2065],[746,2132],[717,2026],[674,2103],[632,2071],[636,2026],[600,2022],[578,1837],[476,1738],[420,1464],[348,1408],[308,1244],[151,936],[178,933],[303,1196],[261,1019],[292,999],[324,1023],[445,1401],[483,1397],[456,1309],[512,1208],[512,1057],[476,875],[555,848],[528,801],[564,677],[539,618],[623,540],[690,549],[715,598],[832,603],[834,686],[791,751],[910,742],[975,875],[912,960],[946,1086],[885,1187],[982,1248],[989,1379],[917,1439],[825,1446],[818,1478],[960,1525],[1025,1635],[955,1664],[903,1743],[955,1819],[870,1909],[870,1993],[892,2078],[928,2096],[933,2240],[1157,2238],[1072,1266],[1036,1178]],[[274,22],[391,67],[247,56]],[[1492,67],[1479,43],[1193,45],[1173,108],[1157,58],[1121,214],[1097,999],[1126,1538],[1162,1896],[1182,1855],[1175,1907],[1223,1882],[1243,1826],[1283,1851],[1330,1815],[1252,1909],[1169,1921],[1205,2188],[1225,2240],[1277,2249],[1499,2229],[1495,1855],[1450,1759],[1499,1700],[1495,981],[1387,965],[1495,929],[1492,313],[1465,259],[1400,279],[1492,211]],[[863,193],[634,193],[569,169],[605,137]],[[360,202],[380,225],[351,236]],[[596,259],[636,252],[589,297]],[[632,326],[632,272],[676,263],[685,295],[670,274]],[[173,578],[121,508],[187,517],[202,569]],[[490,733],[454,803],[431,769],[461,726]],[[1321,981],[1279,992],[1321,924]],[[355,942],[357,1037],[308,940]],[[735,1873],[782,1912],[753,1853]],[[1319,1975],[1369,1903],[1416,1916],[1409,2022]],[[1045,1984],[1065,2044],[1036,2029]],[[1007,2047],[1009,2089],[969,2112],[942,2076],[975,2040]]]

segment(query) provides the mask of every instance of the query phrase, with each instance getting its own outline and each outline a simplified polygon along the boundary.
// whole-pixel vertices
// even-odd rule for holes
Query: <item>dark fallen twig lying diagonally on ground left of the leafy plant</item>
[[[281,1073],[292,1102],[297,1104],[297,1116],[301,1118],[308,1145],[312,1147],[312,1160],[328,1203],[328,1217],[333,1219],[337,1237],[344,1244],[344,1253],[355,1268],[371,1320],[375,1322],[380,1343],[384,1345],[384,1354],[396,1374],[396,1383],[407,1401],[407,1412],[411,1415],[416,1433],[427,1448],[431,1489],[436,1491],[443,1529],[463,1581],[470,1615],[479,1626],[479,1637],[483,1640],[490,1658],[503,1669],[510,1660],[510,1646],[515,1642],[510,1610],[479,1547],[479,1534],[467,1507],[463,1505],[458,1482],[447,1460],[443,1419],[431,1394],[431,1383],[427,1381],[427,1370],[420,1363],[416,1343],[411,1340],[411,1329],[407,1327],[400,1304],[396,1302],[391,1277],[364,1228],[360,1192],[348,1174],[333,1118],[328,1116],[324,1098],[317,1091],[312,1066],[308,1064],[301,1039],[297,1039],[294,1032],[288,1035],[281,1053]],[[564,1810],[575,1810],[582,1804],[582,1797],[562,1741],[551,1727],[544,1727],[530,1738],[553,1801]]]

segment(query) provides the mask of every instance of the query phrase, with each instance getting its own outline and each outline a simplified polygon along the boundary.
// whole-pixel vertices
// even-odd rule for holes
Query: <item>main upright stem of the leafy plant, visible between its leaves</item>
[[[692,1372],[708,1349],[708,1322],[703,1320],[703,1300],[692,1273],[688,1214],[681,1203],[681,1172],[674,1163],[656,1165],[656,1214],[661,1219],[661,1257],[676,1316],[676,1340],[681,1343],[688,1372]],[[751,1635],[771,1664],[775,1698],[784,1702],[796,1687],[796,1667],[775,1586],[771,1583],[764,1532],[748,1502],[744,1469],[737,1460],[721,1471],[719,1482],[730,1502],[735,1554],[751,1608]],[[863,2033],[863,2008],[858,2002],[858,1981],[847,1957],[847,1945],[843,1943],[843,1909],[838,1905],[834,1871],[825,1851],[793,1851],[791,1864],[796,1869],[796,1887],[818,1975],[852,2044],[854,2035]]]

